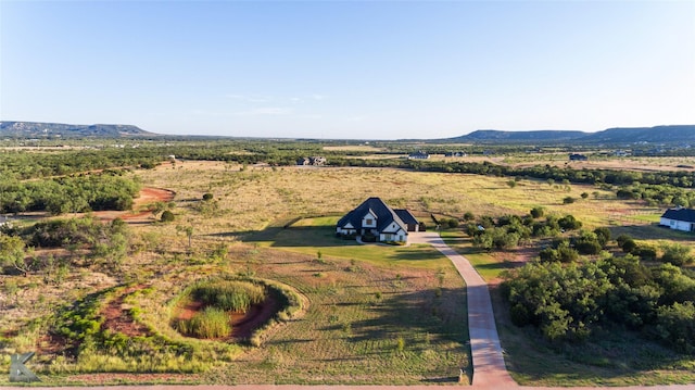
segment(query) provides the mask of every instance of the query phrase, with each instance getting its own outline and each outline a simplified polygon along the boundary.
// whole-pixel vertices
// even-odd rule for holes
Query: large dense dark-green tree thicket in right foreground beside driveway
[[[604,256],[563,265],[532,262],[503,284],[511,320],[551,341],[581,341],[595,330],[628,328],[684,353],[695,352],[695,279],[672,264]]]

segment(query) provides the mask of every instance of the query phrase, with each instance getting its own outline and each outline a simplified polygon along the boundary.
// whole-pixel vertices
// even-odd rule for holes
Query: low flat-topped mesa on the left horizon
[[[155,137],[132,125],[68,125],[40,122],[0,122],[0,137],[11,138],[122,138]]]

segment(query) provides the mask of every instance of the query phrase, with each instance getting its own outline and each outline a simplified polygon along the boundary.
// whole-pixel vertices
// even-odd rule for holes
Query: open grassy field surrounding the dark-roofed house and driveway
[[[572,214],[586,228],[607,226],[614,237],[624,232],[655,243],[693,244],[687,234],[654,226],[659,210],[618,200],[614,192],[593,186],[522,179],[511,187],[504,177],[194,161],[165,164],[138,175],[146,186],[176,192],[172,209],[175,222],[164,224],[151,217],[134,224],[138,251],[121,265],[117,274],[94,272],[101,268],[93,266],[71,272],[62,285],[47,285],[42,275],[12,279],[16,289],[3,298],[0,306],[0,352],[7,354],[38,344],[45,330],[40,327],[14,335],[21,324],[40,323],[60,302],[124,284],[152,285],[148,289],[153,292],[139,294],[127,304],[141,313],[140,322],[176,338],[168,325],[162,325],[166,323],[163,318],[168,318],[172,297],[197,278],[228,273],[291,286],[306,298],[308,306],[301,318],[270,329],[261,348],[242,345],[223,351],[228,362],[206,365],[186,377],[149,380],[450,382],[458,379],[459,368],[470,374],[464,281],[451,263],[430,247],[359,246],[336,238],[337,219],[366,198],[381,197],[394,207],[407,207],[430,227],[430,214],[521,215],[543,206],[546,213]],[[206,192],[214,196],[213,201],[201,200]],[[586,199],[581,197],[584,192],[590,194]],[[577,201],[565,204],[566,197]],[[459,230],[445,230],[442,236],[492,282],[498,281],[505,269],[538,253],[538,248],[484,253],[475,250]],[[9,279],[3,278],[8,286]],[[525,385],[695,380],[692,356],[673,355],[658,345],[640,345],[633,355],[628,347],[637,341],[629,336],[627,341],[616,339],[604,345],[547,349],[532,329],[510,325],[497,295],[495,304],[507,364],[514,377]],[[0,368],[7,365],[9,360],[0,360]],[[64,373],[48,377],[48,382],[123,380],[117,376],[93,378]],[[0,377],[0,385],[3,380]]]

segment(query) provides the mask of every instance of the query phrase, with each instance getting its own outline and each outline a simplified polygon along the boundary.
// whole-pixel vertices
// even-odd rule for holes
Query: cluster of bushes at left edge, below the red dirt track
[[[122,263],[130,249],[130,230],[119,218],[110,224],[86,216],[39,222],[24,229],[0,231],[0,267],[28,274],[55,265],[34,255],[34,248],[64,248],[71,256],[87,254],[109,266]]]

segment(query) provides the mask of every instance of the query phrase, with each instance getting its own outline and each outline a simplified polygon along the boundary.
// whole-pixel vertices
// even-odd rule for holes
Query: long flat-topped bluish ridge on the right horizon
[[[441,139],[445,142],[482,143],[687,143],[695,142],[695,125],[671,125],[655,127],[615,127],[597,133],[570,130],[504,131],[477,130],[471,134]]]

